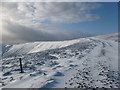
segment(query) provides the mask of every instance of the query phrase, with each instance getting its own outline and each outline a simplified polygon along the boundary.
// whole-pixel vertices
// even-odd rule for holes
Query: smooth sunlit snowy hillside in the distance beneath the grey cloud
[[[89,40],[89,39],[88,39]],[[87,39],[76,39],[69,41],[56,41],[56,42],[32,42],[25,44],[16,44],[4,47],[3,56],[15,56],[29,53],[36,53],[44,50],[66,47],[78,42],[84,42]]]

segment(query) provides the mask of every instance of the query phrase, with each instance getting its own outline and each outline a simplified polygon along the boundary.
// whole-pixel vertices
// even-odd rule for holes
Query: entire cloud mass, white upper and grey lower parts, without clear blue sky
[[[76,38],[78,35],[59,30],[57,25],[97,20],[99,16],[91,12],[99,7],[99,3],[4,2],[1,7],[3,43]]]

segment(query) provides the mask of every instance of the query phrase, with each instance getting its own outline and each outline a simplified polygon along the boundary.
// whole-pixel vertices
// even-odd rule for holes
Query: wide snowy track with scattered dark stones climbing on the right
[[[64,70],[61,72],[64,73],[62,78],[54,77],[55,81],[43,88],[118,88],[118,59],[114,58],[118,57],[117,46],[112,46],[113,42],[91,40],[97,42],[97,46],[87,56],[77,61],[77,67]],[[116,56],[113,57],[113,54]]]

